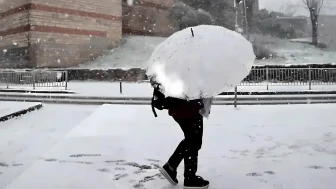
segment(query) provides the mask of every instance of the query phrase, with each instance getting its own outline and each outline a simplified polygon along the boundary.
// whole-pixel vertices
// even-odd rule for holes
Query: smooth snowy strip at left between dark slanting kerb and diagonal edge
[[[46,104],[39,111],[1,122],[0,188],[13,182],[96,108]]]

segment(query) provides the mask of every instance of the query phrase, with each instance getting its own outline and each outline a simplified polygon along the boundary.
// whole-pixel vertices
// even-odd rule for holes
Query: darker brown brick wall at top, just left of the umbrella
[[[169,20],[168,9],[174,0],[134,0],[132,6],[123,1],[123,33],[169,36],[176,30]]]

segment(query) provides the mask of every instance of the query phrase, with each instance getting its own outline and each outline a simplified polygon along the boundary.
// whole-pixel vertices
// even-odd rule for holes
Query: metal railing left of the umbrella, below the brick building
[[[0,71],[0,86],[10,87],[68,87],[67,71]]]

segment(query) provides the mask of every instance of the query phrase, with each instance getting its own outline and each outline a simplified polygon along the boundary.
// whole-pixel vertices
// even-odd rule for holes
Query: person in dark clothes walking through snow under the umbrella
[[[184,159],[184,188],[206,189],[209,181],[197,176],[198,151],[202,147],[203,117],[208,117],[212,98],[200,100],[177,100],[169,115],[180,125],[184,139],[177,146],[168,162],[160,167],[160,172],[172,184],[177,185],[177,167]]]

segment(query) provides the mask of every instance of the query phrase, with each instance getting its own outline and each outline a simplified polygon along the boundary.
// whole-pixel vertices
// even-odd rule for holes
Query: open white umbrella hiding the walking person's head
[[[252,44],[241,34],[200,25],[176,32],[159,44],[146,74],[166,96],[211,98],[237,86],[254,60]]]

